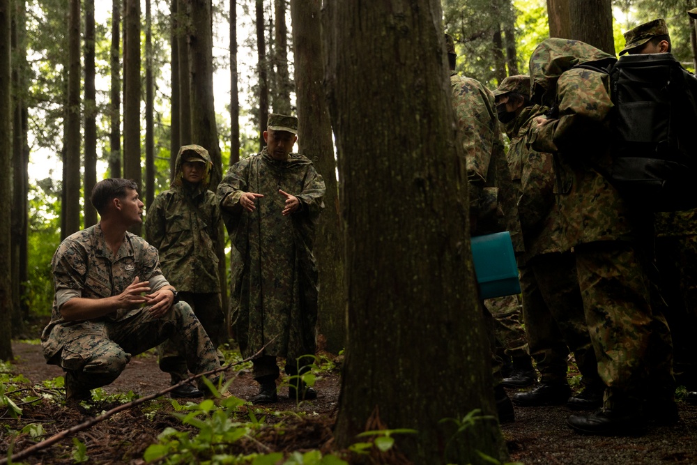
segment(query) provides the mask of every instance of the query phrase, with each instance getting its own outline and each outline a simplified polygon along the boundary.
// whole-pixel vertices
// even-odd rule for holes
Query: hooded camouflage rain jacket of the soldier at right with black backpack
[[[556,118],[534,128],[530,142],[536,151],[556,153],[554,192],[564,222],[564,249],[629,238],[635,229],[625,202],[597,171],[611,162],[609,77],[576,68],[613,61],[588,44],[559,38],[543,40],[530,56],[533,97],[556,111]]]

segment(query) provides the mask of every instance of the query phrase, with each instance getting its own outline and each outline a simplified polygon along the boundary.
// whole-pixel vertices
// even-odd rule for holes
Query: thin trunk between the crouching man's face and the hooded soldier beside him
[[[155,86],[151,0],[145,0],[145,204],[155,200]]]

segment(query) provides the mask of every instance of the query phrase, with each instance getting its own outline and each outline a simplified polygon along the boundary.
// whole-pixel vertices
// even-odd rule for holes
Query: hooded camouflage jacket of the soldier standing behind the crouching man
[[[210,162],[207,151],[201,156]],[[180,150],[175,181],[147,210],[146,238],[158,248],[162,273],[178,291],[220,292],[216,254],[223,241],[220,207],[203,183],[181,180],[182,159]]]

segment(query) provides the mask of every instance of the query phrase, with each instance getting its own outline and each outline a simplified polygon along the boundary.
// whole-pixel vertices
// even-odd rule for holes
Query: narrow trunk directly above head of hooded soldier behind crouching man
[[[177,33],[179,49],[179,139],[181,145],[194,144],[191,137],[191,66],[189,63],[189,1],[177,0]],[[177,151],[179,148],[177,147]],[[176,153],[174,153],[176,157]]]

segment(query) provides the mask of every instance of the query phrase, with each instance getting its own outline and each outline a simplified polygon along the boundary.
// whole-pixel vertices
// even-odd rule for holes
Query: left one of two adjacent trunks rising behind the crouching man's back
[[[80,229],[80,1],[70,0],[68,23],[68,121],[66,122],[66,156],[63,159],[63,190],[66,203],[65,236]]]

